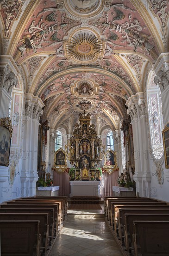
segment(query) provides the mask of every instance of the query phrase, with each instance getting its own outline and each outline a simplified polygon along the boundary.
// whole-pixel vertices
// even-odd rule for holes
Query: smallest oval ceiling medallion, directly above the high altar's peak
[[[93,101],[89,100],[78,100],[73,104],[73,108],[75,111],[80,112],[86,111],[87,113],[94,111],[96,108],[96,104]]]

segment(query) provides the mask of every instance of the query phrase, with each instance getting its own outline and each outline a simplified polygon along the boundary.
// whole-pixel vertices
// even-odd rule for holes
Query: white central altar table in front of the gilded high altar
[[[72,196],[100,196],[100,181],[70,182]]]

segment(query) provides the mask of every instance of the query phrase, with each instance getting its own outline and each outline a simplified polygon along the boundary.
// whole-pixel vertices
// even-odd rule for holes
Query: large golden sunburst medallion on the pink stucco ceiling
[[[100,40],[92,31],[78,31],[69,37],[68,42],[63,43],[66,58],[86,65],[104,56],[105,42]]]

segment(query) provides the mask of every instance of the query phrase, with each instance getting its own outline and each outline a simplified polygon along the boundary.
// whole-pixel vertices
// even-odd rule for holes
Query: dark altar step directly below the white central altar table
[[[68,199],[70,204],[101,204],[103,202],[103,198],[99,196],[73,196]]]

